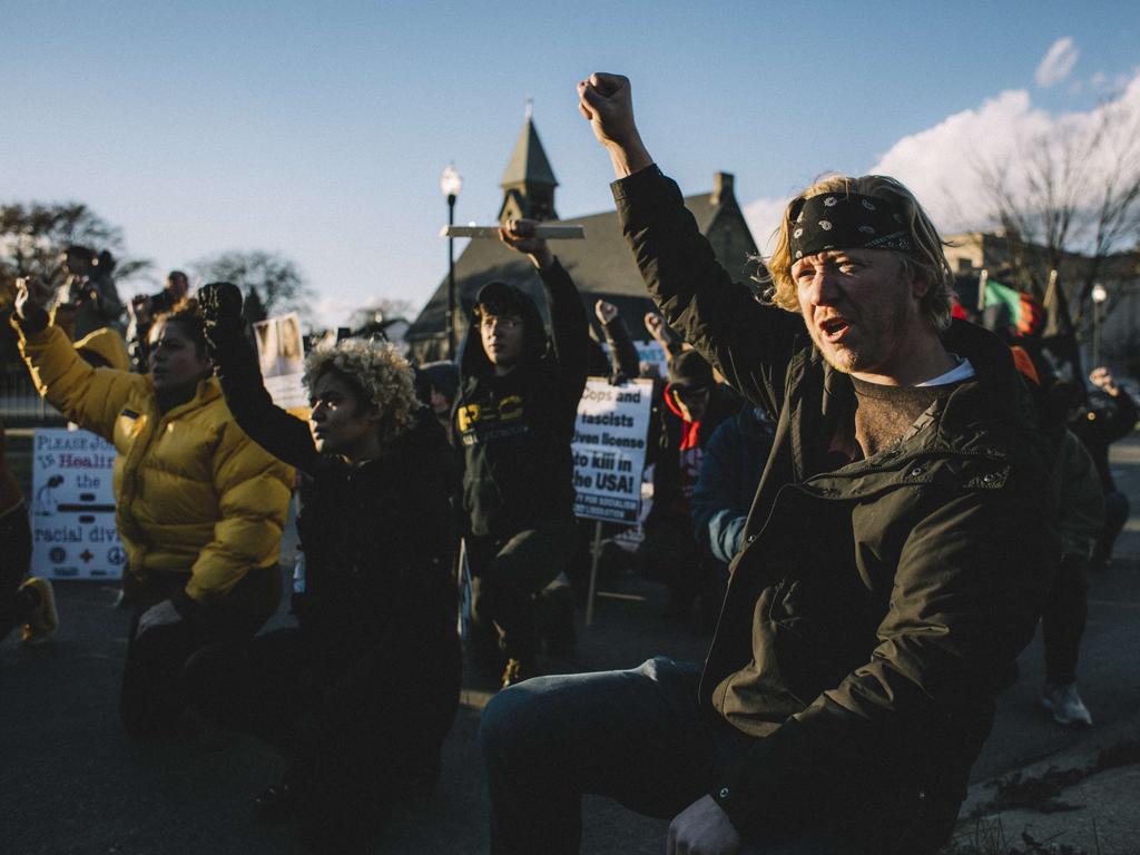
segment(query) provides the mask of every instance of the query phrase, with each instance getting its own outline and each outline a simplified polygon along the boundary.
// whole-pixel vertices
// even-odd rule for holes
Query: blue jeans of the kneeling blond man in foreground
[[[577,853],[583,793],[661,819],[708,793],[716,769],[752,738],[699,708],[699,666],[657,657],[633,670],[536,677],[499,692],[479,730],[491,852]],[[849,852],[773,831],[771,846],[742,855]]]

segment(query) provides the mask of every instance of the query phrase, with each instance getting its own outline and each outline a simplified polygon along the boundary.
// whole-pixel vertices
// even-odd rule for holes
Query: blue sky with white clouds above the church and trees
[[[633,79],[646,144],[686,193],[734,172],[757,230],[821,172],[961,190],[964,148],[1140,98],[1133,2],[519,8],[0,2],[0,201],[85,202],[157,274],[282,252],[339,323],[376,298],[427,299],[447,259],[439,174],[463,174],[459,221],[492,221],[528,98],[559,213],[610,207],[609,161],[576,109],[591,71]],[[948,222],[962,206],[946,204],[947,227],[968,225]]]

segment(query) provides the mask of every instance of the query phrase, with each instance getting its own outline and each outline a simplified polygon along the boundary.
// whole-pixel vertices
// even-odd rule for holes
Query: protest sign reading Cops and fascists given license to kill
[[[575,515],[637,522],[653,383],[613,386],[591,377],[575,422]]]

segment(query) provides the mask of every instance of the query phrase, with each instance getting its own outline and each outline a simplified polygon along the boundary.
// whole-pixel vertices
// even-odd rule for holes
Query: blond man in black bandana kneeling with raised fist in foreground
[[[666,321],[776,427],[703,669],[658,657],[487,707],[492,852],[577,852],[583,792],[671,816],[669,855],[935,852],[1057,557],[1009,350],[951,321],[899,182],[793,199],[762,303],[646,152],[629,81],[578,92]]]

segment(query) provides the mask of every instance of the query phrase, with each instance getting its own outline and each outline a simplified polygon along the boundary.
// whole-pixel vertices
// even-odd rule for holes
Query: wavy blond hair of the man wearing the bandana
[[[788,203],[780,220],[775,250],[764,260],[767,272],[762,271],[756,277],[757,282],[768,286],[764,302],[779,306],[788,311],[798,312],[800,310],[796,283],[791,278],[793,263],[789,239],[789,234],[793,228],[791,212],[801,199],[817,196],[821,193],[856,194],[881,198],[890,202],[902,212],[906,229],[914,242],[913,253],[898,253],[903,269],[907,275],[927,283],[929,287],[920,301],[923,317],[936,332],[945,331],[950,326],[954,274],[950,269],[950,262],[946,261],[946,254],[942,247],[951,244],[945,243],[938,236],[938,230],[934,227],[927,212],[922,210],[922,205],[914,198],[914,194],[901,181],[887,176],[862,176],[861,178],[824,176]]]

